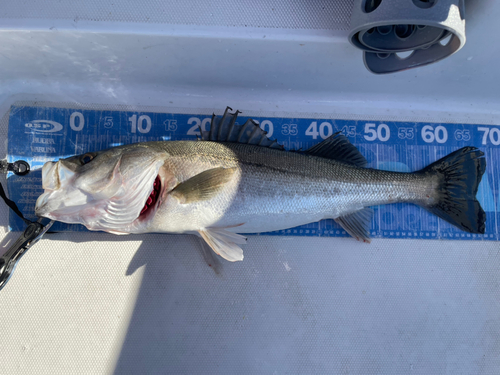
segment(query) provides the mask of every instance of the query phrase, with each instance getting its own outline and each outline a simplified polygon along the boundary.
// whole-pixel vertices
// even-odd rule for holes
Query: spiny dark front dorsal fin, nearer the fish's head
[[[267,132],[259,127],[259,124],[252,119],[248,119],[243,125],[236,124],[238,114],[236,111],[230,113],[231,108],[227,107],[222,118],[215,114],[212,116],[210,130],[201,133],[203,141],[244,143],[282,150],[283,146],[278,141],[267,137]]]

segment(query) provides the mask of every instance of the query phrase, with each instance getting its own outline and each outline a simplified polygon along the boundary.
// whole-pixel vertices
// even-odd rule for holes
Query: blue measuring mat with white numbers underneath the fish
[[[244,115],[244,113],[243,113]],[[240,123],[248,117],[240,116]],[[392,204],[375,207],[370,234],[383,238],[498,240],[500,211],[500,126],[253,117],[270,138],[287,149],[307,149],[335,132],[343,132],[368,160],[368,167],[399,172],[419,170],[463,146],[486,154],[487,169],[478,200],[486,211],[486,233],[470,234],[420,207]],[[24,213],[33,213],[42,194],[41,172],[46,161],[103,150],[127,143],[193,140],[206,130],[211,114],[173,114],[75,108],[12,106],[9,118],[8,161],[30,163],[28,176],[9,176],[10,197]],[[29,215],[26,215],[30,218]],[[34,218],[34,217],[32,217]],[[12,230],[24,223],[10,216]],[[55,231],[84,231],[80,225],[56,223]],[[294,236],[348,236],[333,220],[267,233]]]

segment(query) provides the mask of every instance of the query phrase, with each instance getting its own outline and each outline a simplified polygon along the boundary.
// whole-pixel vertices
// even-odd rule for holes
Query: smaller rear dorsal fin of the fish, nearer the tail
[[[341,132],[335,133],[323,142],[303,151],[305,154],[364,167],[368,163],[359,150]]]

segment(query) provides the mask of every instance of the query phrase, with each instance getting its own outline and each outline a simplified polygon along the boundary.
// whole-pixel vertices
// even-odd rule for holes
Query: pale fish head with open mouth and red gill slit
[[[139,233],[160,204],[168,154],[128,145],[47,162],[35,213],[90,230]]]

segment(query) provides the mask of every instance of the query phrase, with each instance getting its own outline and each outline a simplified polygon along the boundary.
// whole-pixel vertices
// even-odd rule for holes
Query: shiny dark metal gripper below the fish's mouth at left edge
[[[19,262],[26,250],[37,243],[54,223],[54,220],[51,220],[47,225],[43,226],[43,220],[43,218],[40,218],[38,221],[30,223],[9,250],[0,257],[0,290],[9,281],[17,262]]]

